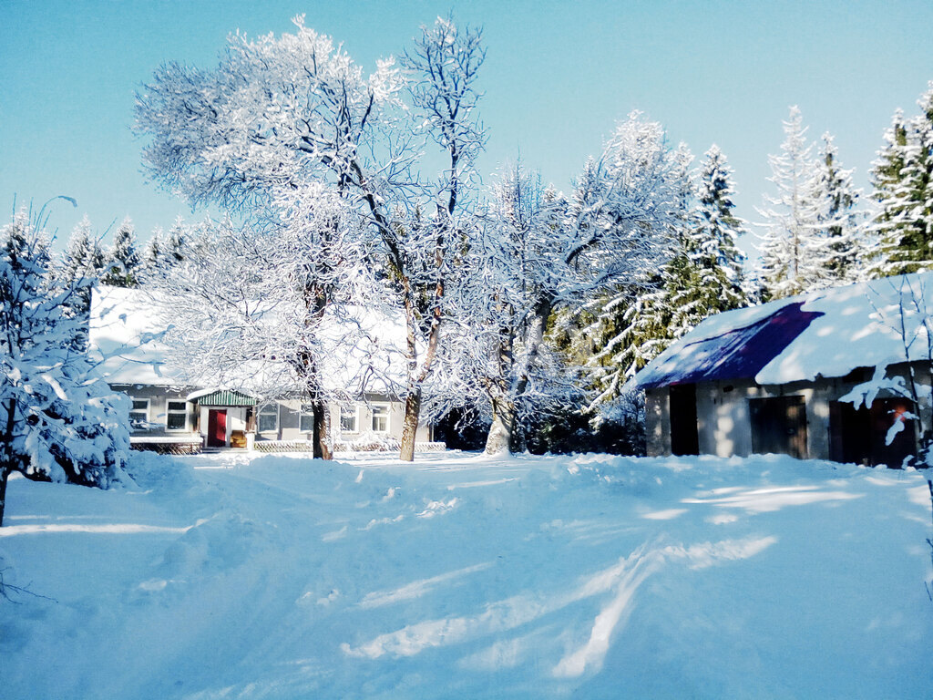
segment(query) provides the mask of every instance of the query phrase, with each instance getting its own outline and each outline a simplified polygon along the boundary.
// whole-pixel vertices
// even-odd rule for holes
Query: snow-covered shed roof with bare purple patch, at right
[[[901,314],[903,310],[903,314]],[[635,375],[642,388],[716,379],[760,385],[842,377],[926,354],[933,273],[915,273],[711,316]],[[907,357],[899,326],[917,340]]]

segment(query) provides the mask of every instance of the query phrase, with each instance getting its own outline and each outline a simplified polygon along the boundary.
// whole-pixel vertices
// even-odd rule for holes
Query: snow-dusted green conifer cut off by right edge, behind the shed
[[[878,211],[870,231],[879,240],[872,277],[933,268],[933,82],[917,104],[921,113],[913,119],[895,113],[873,163]]]

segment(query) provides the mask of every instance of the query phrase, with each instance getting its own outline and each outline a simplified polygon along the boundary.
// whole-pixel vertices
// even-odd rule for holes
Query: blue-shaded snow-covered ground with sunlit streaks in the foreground
[[[9,484],[0,697],[929,698],[926,475],[134,454]]]

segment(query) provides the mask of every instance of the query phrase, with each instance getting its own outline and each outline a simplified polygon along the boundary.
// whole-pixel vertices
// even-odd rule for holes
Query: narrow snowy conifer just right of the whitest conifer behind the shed
[[[838,149],[829,133],[823,134],[815,178],[815,200],[820,203],[815,249],[815,285],[832,287],[856,282],[862,276],[863,245],[859,192],[852,184],[852,171],[839,164]]]

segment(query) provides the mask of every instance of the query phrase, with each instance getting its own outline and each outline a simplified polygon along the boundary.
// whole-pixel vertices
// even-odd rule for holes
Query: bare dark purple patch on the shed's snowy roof
[[[745,328],[673,347],[661,363],[639,377],[638,386],[653,389],[716,379],[754,377],[807,329],[816,317],[823,315],[802,311],[803,303],[789,303]]]

